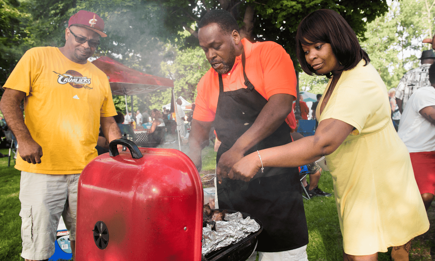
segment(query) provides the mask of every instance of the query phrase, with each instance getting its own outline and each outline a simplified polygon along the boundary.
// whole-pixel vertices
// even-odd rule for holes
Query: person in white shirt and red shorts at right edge
[[[435,64],[428,74],[432,86],[420,87],[409,97],[397,132],[408,148],[426,211],[435,194]]]

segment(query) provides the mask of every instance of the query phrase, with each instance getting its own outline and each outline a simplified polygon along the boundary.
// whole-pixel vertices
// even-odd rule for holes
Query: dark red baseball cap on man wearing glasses
[[[107,37],[107,34],[103,32],[104,21],[96,13],[92,13],[85,10],[80,10],[68,21],[68,28],[71,25],[84,27],[98,33],[101,37]]]

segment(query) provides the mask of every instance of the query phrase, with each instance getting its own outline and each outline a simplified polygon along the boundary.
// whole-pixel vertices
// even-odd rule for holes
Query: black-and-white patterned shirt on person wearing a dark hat
[[[431,64],[422,64],[415,69],[409,70],[400,80],[395,97],[402,100],[402,110],[405,110],[406,102],[418,88],[431,86],[428,72],[430,66]]]

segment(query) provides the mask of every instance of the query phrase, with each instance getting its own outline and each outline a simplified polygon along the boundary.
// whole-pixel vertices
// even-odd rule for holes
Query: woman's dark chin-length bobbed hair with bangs
[[[321,75],[308,65],[302,50],[302,44],[312,43],[331,44],[332,52],[338,62],[344,66],[343,70],[351,70],[361,59],[365,60],[365,65],[370,62],[368,54],[359,45],[355,31],[339,13],[333,10],[320,9],[308,14],[299,23],[296,32],[296,55],[302,70],[308,75]],[[326,76],[330,78],[331,73]]]

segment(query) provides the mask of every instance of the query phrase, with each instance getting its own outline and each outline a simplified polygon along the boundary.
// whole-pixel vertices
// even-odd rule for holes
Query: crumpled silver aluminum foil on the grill
[[[250,217],[243,219],[240,212],[225,214],[226,221],[216,221],[216,231],[212,225],[202,228],[202,254],[237,243],[252,232],[258,231],[260,225]]]

